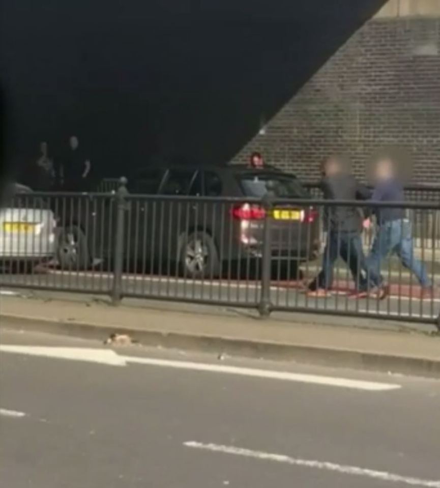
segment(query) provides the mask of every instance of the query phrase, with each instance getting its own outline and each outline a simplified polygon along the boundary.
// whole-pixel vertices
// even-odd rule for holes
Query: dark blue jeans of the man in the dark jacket
[[[338,257],[341,256],[348,265],[358,291],[367,289],[365,255],[362,249],[362,240],[359,232],[338,232],[330,230],[327,234],[327,244],[322,257],[322,269],[310,284],[310,290],[332,288],[334,267]],[[364,273],[364,274],[363,274]]]

